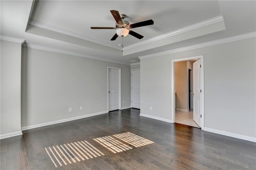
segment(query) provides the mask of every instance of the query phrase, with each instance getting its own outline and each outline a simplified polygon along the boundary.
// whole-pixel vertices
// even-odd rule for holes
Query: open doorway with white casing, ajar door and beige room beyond
[[[204,130],[203,59],[204,56],[201,55],[172,60],[172,123],[188,124],[194,127],[201,127]],[[183,63],[182,79],[178,79],[180,75],[176,75],[178,70],[176,63],[178,62]],[[189,62],[191,63],[184,66]],[[192,62],[193,66],[191,65]],[[186,85],[184,82],[186,82]],[[182,86],[184,86],[183,91],[180,90]]]

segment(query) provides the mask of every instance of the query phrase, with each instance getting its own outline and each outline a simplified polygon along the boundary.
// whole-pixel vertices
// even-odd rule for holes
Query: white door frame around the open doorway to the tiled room
[[[201,90],[202,93],[200,93],[200,102],[201,102],[201,129],[204,130],[204,55],[199,55],[199,56],[194,56],[194,57],[186,57],[186,58],[180,58],[180,59],[172,59],[172,77],[171,77],[171,82],[172,82],[172,89],[171,89],[171,105],[172,105],[172,122],[175,123],[175,62],[178,61],[186,61],[190,59],[200,59],[201,60]]]

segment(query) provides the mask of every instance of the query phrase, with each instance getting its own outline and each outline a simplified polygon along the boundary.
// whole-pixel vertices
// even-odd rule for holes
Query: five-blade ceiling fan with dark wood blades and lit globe
[[[135,24],[130,24],[128,21],[124,20],[126,18],[125,14],[119,14],[118,11],[116,10],[110,10],[112,16],[116,20],[116,27],[91,27],[91,29],[110,29],[110,30],[116,30],[116,34],[111,38],[111,41],[116,40],[118,36],[120,37],[125,37],[128,34],[138,38],[142,39],[144,36],[129,30],[131,28],[137,28],[137,27],[142,27],[142,26],[149,26],[153,25],[154,21],[153,20],[146,20],[142,22],[137,22]]]

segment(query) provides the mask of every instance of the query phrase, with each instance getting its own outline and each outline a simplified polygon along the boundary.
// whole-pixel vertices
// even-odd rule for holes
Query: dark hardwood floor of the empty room
[[[1,140],[0,169],[256,169],[254,142],[204,132],[200,128],[178,123],[140,117],[139,113],[138,109],[126,109],[24,130],[22,136]],[[136,134],[136,138],[141,136],[145,138],[144,141],[147,139],[154,143],[134,147],[124,142],[132,149],[114,153],[94,140],[124,132]],[[64,147],[64,144],[85,140],[103,155],[80,162],[72,162],[70,159],[71,164],[66,160],[66,165],[59,158],[62,166],[55,161],[56,167],[45,149],[48,148],[50,152],[50,148],[54,149],[52,146],[57,149],[60,145]],[[85,147],[82,149],[85,150]],[[71,155],[71,151],[69,153]]]

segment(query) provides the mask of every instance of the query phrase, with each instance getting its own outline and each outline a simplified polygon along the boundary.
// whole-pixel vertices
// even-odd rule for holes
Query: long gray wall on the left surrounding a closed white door
[[[22,47],[21,127],[107,111],[107,67],[122,69],[129,107],[129,65]]]

